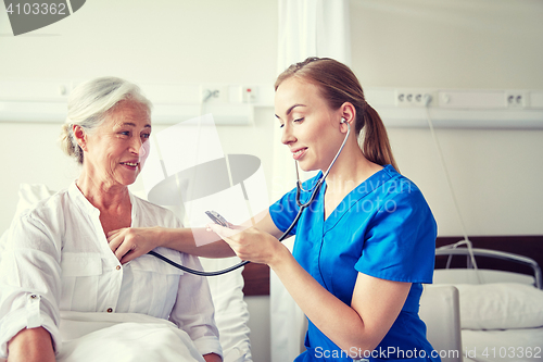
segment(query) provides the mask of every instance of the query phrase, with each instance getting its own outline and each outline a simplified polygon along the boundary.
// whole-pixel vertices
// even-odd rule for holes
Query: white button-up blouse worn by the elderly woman
[[[130,195],[131,226],[180,227],[171,211]],[[122,265],[111,251],[100,211],[75,183],[39,202],[8,230],[0,262],[0,357],[25,327],[43,326],[59,351],[60,311],[141,313],[174,322],[202,354],[222,354],[207,280],[153,255]],[[156,252],[191,269],[197,257]]]

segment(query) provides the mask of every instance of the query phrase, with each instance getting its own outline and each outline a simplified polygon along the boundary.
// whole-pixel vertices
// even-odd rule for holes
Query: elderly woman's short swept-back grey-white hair
[[[72,130],[80,126],[91,135],[105,116],[123,100],[141,103],[151,113],[151,102],[140,88],[117,77],[100,77],[78,85],[70,95],[66,122],[62,125],[61,148],[70,157],[83,164],[83,150]]]

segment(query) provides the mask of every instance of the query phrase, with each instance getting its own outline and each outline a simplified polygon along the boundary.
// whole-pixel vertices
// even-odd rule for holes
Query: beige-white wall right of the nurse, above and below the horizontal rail
[[[352,0],[363,87],[543,89],[543,2]],[[437,130],[468,235],[542,234],[543,130]],[[440,236],[462,235],[428,129],[389,129]]]

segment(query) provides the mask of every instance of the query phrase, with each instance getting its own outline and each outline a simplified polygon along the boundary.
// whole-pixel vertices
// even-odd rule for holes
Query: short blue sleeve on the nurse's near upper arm
[[[418,189],[397,192],[374,215],[355,269],[382,279],[432,283],[437,224]]]

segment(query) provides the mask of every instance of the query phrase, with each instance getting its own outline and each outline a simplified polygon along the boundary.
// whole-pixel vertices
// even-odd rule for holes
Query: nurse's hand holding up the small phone
[[[217,224],[207,224],[206,227],[225,240],[241,260],[272,265],[281,259],[282,252],[290,253],[276,237],[256,227],[232,225],[228,228]]]

